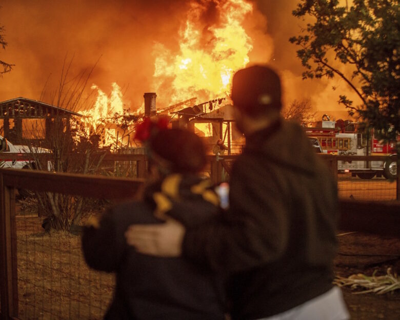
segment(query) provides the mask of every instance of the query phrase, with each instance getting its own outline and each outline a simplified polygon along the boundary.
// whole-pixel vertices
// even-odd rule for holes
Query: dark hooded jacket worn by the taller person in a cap
[[[187,230],[183,252],[231,275],[233,319],[278,314],[332,287],[337,190],[303,128],[282,120],[248,136],[229,199]]]

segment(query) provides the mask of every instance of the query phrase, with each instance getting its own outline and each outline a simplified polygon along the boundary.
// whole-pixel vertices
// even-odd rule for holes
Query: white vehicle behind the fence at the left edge
[[[45,148],[30,148],[24,145],[13,145],[5,137],[0,135],[0,167],[1,168],[13,168],[13,169],[29,169],[36,168],[34,157],[29,156],[31,150],[35,153],[49,153],[50,150]],[[18,153],[21,155],[26,154],[26,157],[18,156],[18,158],[13,158],[7,156],[7,153]]]

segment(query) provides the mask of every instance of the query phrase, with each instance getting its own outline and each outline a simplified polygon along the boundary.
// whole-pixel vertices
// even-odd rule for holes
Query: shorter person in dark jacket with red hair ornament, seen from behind
[[[87,264],[116,273],[113,301],[105,319],[225,318],[222,281],[184,258],[142,255],[126,244],[131,224],[168,223],[173,216],[193,228],[218,213],[211,182],[198,173],[206,164],[205,147],[194,133],[167,129],[164,119],[146,118],[136,128],[145,143],[151,178],[140,201],[108,209],[84,228],[82,246]]]

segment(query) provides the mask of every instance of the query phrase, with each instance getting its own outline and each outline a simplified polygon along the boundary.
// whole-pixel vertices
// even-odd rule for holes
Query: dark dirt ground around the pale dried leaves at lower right
[[[387,269],[400,274],[400,238],[363,233],[339,233],[339,252],[335,274],[348,277],[363,273],[386,275]],[[354,320],[400,319],[400,290],[383,295],[355,294],[361,289],[342,287],[351,318]]]

